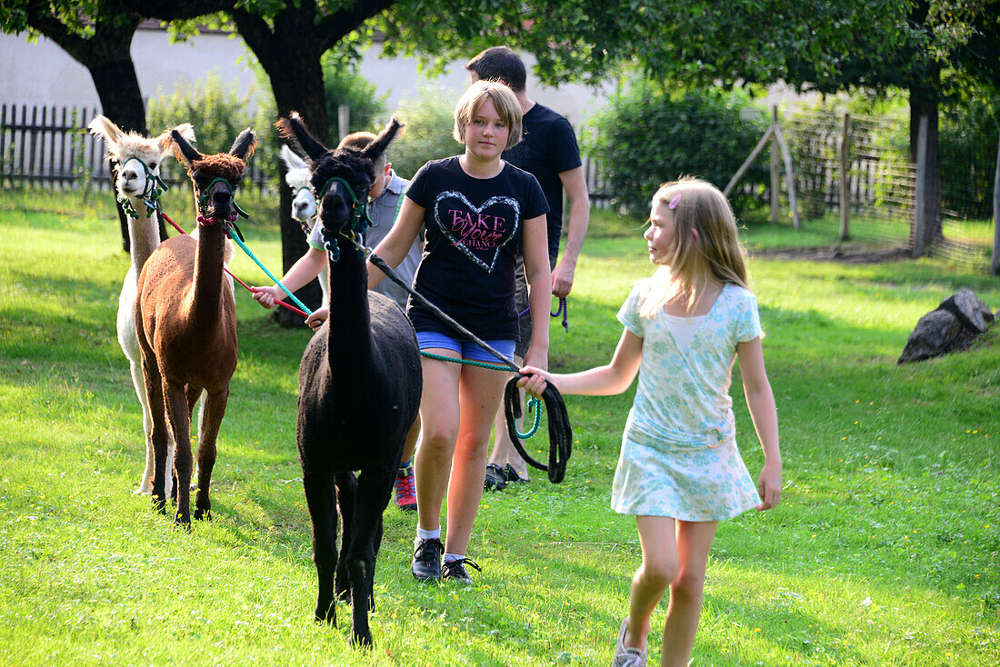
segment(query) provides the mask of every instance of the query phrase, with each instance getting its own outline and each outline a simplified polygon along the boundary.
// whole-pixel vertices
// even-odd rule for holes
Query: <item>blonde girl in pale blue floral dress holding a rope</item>
[[[520,383],[534,395],[546,382],[564,394],[610,395],[639,376],[611,506],[636,517],[642,565],[613,667],[646,664],[650,618],[668,588],[660,664],[688,664],[718,522],[770,509],[781,496],[777,411],[729,203],[700,179],[667,183],[643,237],[658,268],[618,312],[625,328],[611,362],[568,374],[526,366]],[[737,359],[764,451],[756,484],[736,446],[729,385]]]

